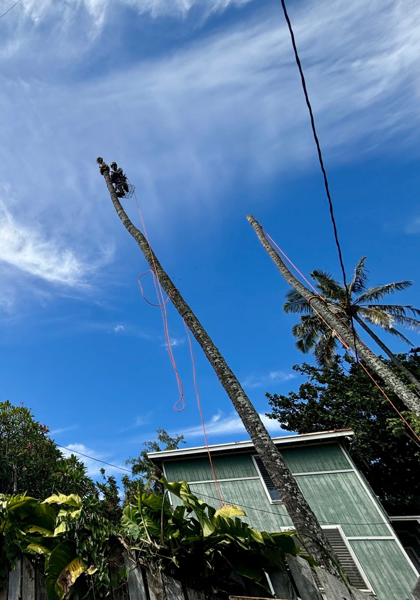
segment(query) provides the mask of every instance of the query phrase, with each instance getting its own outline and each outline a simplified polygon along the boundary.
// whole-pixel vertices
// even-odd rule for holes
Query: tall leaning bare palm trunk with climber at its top
[[[120,217],[124,227],[126,227],[127,231],[138,243],[150,268],[153,272],[156,272],[160,285],[169,295],[172,304],[184,319],[184,322],[189,327],[196,341],[198,341],[205,356],[207,356],[208,361],[215,370],[219,381],[230,397],[236,412],[239,414],[240,419],[245,425],[246,431],[248,431],[248,434],[254,443],[255,450],[261,457],[264,466],[272,478],[276,490],[281,496],[282,502],[284,503],[288,515],[293,521],[294,527],[296,527],[296,530],[301,536],[300,539],[302,544],[305,545],[308,553],[314,557],[318,564],[323,565],[330,573],[335,575],[338,574],[334,562],[330,560],[329,556],[327,556],[321,548],[328,548],[331,556],[334,556],[333,550],[324,536],[323,530],[321,529],[314,512],[312,512],[306,502],[296,480],[293,475],[291,475],[290,470],[287,468],[280,452],[271,439],[270,434],[264,427],[260,415],[258,415],[257,410],[252,406],[251,400],[249,400],[248,396],[243,391],[239,380],[236,378],[230,367],[228,367],[227,362],[216,348],[215,344],[213,344],[210,336],[207,334],[189,305],[184,301],[179,290],[175,288],[174,283],[172,283],[168,274],[163,270],[156,255],[151,251],[147,239],[145,239],[144,235],[130,221],[118,200],[117,194],[115,194],[114,186],[109,177],[109,168],[106,170],[105,165],[102,164],[100,165],[100,170],[105,178],[118,217]]]

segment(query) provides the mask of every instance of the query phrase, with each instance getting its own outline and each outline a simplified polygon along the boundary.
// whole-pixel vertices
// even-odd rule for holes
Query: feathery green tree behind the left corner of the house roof
[[[131,465],[133,475],[136,479],[130,479],[129,475],[124,475],[121,482],[124,486],[124,506],[129,503],[136,502],[136,496],[139,491],[145,489],[153,491],[157,494],[163,494],[163,486],[160,479],[163,477],[162,471],[153,464],[148,458],[148,452],[161,452],[163,450],[176,450],[180,443],[184,442],[184,436],[171,437],[167,431],[160,428],[156,431],[157,440],[154,442],[144,442],[144,449],[140,452],[137,458],[129,458],[126,461],[127,465]]]

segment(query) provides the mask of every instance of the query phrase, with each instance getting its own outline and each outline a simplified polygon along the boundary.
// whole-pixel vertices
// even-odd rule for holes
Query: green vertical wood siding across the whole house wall
[[[338,444],[287,448],[282,455],[293,473],[313,473],[349,469],[347,458]],[[213,458],[222,497],[241,506],[246,520],[262,531],[275,532],[292,523],[282,504],[271,504],[252,461],[252,454]],[[219,508],[220,502],[207,458],[165,461],[169,481],[186,480],[193,493]],[[258,478],[256,478],[258,476]],[[255,478],[240,479],[238,478]],[[355,472],[317,473],[296,477],[303,494],[321,525],[339,524],[346,536],[390,536],[377,510],[376,499],[362,485]],[[178,499],[172,497],[178,504]],[[416,576],[401,548],[394,540],[350,540],[377,600],[407,600]]]

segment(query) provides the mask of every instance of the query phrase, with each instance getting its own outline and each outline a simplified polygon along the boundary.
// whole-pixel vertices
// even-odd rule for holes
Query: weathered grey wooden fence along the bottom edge
[[[225,595],[192,590],[169,575],[159,571],[154,573],[135,563],[128,554],[121,557],[120,565],[117,562],[111,568],[113,580],[124,565],[129,571],[127,584],[112,588],[111,600],[227,600]],[[371,597],[353,587],[349,589],[323,569],[311,569],[308,562],[299,557],[289,557],[287,565],[268,575],[275,597],[281,600],[367,600]],[[260,596],[252,583],[247,584],[241,578],[236,580],[245,585],[245,592],[241,596],[230,596],[230,600]],[[415,590],[412,598],[420,599]],[[43,572],[35,569],[23,556],[17,560],[16,569],[10,571],[5,586],[0,590],[0,600],[47,600]],[[77,596],[73,595],[73,600],[78,600]]]

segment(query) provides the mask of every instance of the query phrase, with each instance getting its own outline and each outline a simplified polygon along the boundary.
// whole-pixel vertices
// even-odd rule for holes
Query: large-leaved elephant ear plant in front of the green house
[[[142,559],[190,587],[240,593],[241,578],[232,577],[234,573],[259,586],[261,595],[271,595],[265,572],[280,565],[285,555],[302,552],[294,543],[295,532],[260,532],[242,520],[245,512],[237,506],[216,510],[199,500],[185,481],[160,482],[166,489],[163,497],[139,494],[137,505],[123,511],[124,534],[135,542],[132,548]],[[168,491],[178,499],[173,511]]]

